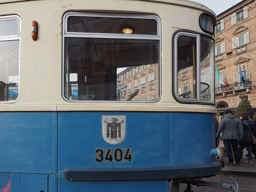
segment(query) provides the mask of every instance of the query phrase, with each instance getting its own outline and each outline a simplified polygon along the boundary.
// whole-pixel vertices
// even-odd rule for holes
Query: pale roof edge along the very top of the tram
[[[22,2],[22,1],[38,1],[38,0],[1,0],[1,3],[14,3],[14,2]],[[191,0],[138,0],[138,1],[152,1],[152,2],[160,2],[160,3],[170,3],[170,4],[178,4],[183,6],[190,6],[197,9],[202,9],[204,11],[212,13],[216,16],[215,12],[209,9],[207,6],[204,6],[201,3],[197,3]]]

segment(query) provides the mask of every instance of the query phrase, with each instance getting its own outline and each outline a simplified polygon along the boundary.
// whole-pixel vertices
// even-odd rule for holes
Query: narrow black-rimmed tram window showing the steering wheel
[[[175,96],[181,102],[215,103],[213,45],[204,35],[176,35]]]

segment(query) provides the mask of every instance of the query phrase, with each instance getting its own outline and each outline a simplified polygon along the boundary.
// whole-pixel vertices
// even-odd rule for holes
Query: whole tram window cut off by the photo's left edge
[[[19,96],[20,20],[0,17],[0,102],[14,102]]]

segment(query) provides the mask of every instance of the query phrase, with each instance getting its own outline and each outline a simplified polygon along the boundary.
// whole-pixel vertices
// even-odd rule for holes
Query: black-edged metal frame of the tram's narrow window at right
[[[173,38],[172,38],[172,61],[173,61],[173,67],[172,67],[172,95],[174,96],[174,99],[179,102],[179,103],[182,103],[182,104],[196,104],[196,105],[212,105],[212,106],[215,106],[215,103],[216,103],[216,96],[215,96],[215,43],[214,43],[214,46],[213,46],[213,51],[212,51],[212,59],[213,59],[213,65],[210,66],[212,67],[213,69],[213,80],[214,82],[211,84],[211,89],[212,89],[212,96],[213,96],[213,101],[214,103],[207,103],[207,102],[201,102],[201,90],[199,89],[201,87],[201,80],[198,81],[198,79],[201,79],[201,73],[197,73],[197,96],[198,98],[197,99],[190,99],[190,98],[180,98],[179,94],[178,94],[178,73],[177,73],[177,39],[182,36],[182,35],[185,35],[185,36],[189,36],[189,37],[195,37],[197,38],[197,66],[196,66],[196,70],[197,71],[201,71],[201,61],[200,61],[200,55],[201,55],[201,35],[202,36],[205,36],[207,38],[210,38],[213,43],[215,42],[214,41],[214,38],[212,36],[209,36],[207,34],[204,34],[204,33],[197,33],[197,32],[192,32],[192,31],[189,31],[189,30],[177,30],[174,34],[173,34]],[[209,55],[209,54],[208,54]]]

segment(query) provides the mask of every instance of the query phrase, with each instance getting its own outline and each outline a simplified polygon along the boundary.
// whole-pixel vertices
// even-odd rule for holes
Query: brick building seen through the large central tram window
[[[148,64],[137,67],[128,67],[117,74],[117,81],[126,87],[126,93],[120,100],[127,100],[135,90],[139,93],[132,101],[156,101],[159,98],[159,65]]]

